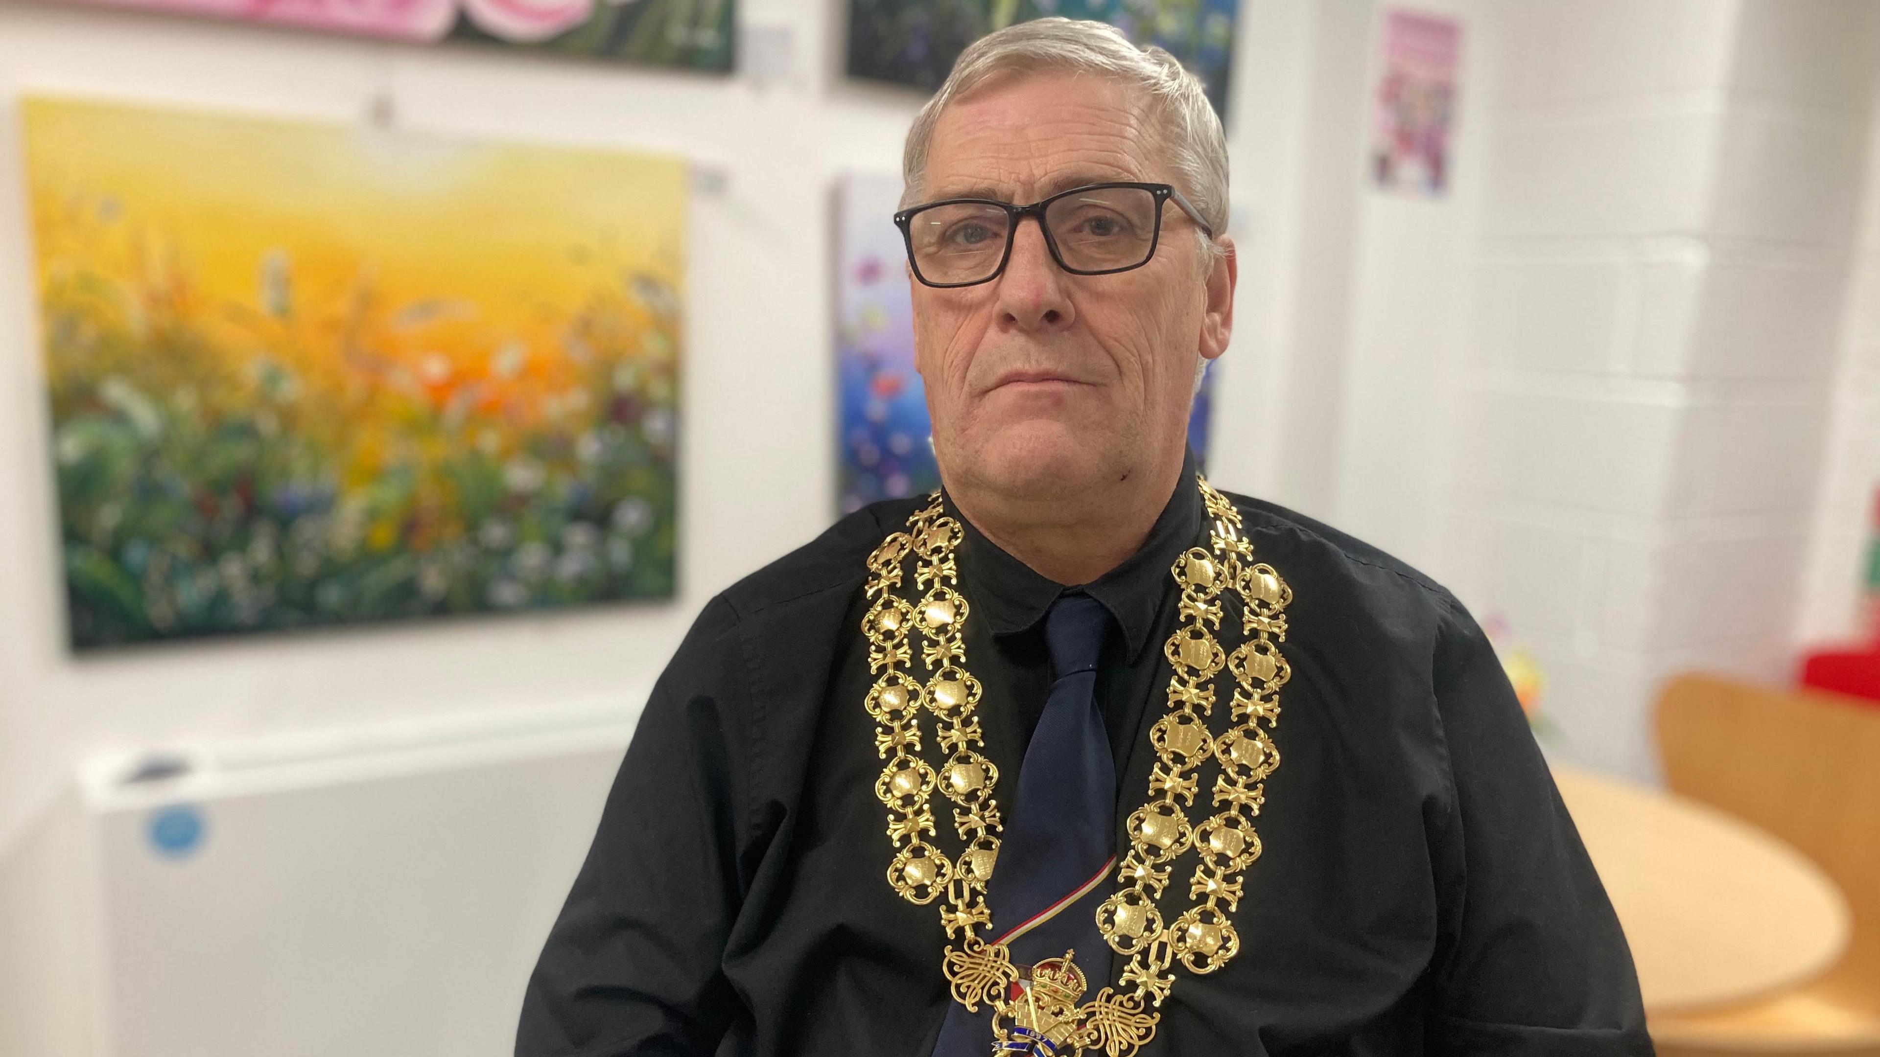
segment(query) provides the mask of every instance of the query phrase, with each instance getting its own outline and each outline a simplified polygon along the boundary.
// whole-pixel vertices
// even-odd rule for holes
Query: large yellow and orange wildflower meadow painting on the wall
[[[681,160],[23,126],[73,649],[673,594]]]

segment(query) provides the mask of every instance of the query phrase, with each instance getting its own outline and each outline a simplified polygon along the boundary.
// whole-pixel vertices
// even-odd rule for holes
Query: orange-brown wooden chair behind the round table
[[[1788,841],[1841,886],[1848,952],[1748,1002],[1654,1014],[1662,1057],[1880,1057],[1880,709],[1833,694],[1683,675],[1658,698],[1669,786]]]

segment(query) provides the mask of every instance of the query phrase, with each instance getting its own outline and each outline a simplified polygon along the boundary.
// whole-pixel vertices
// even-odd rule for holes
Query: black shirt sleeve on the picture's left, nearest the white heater
[[[748,767],[735,617],[707,606],[652,688],[523,997],[517,1057],[713,1053]]]

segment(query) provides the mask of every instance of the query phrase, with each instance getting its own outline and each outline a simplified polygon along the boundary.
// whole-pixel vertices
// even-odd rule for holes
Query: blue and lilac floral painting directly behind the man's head
[[[901,177],[850,173],[837,182],[837,448],[838,508],[940,487],[927,389],[914,371],[914,299],[895,228]],[[1100,278],[1094,278],[1100,282]],[[1209,363],[1188,416],[1188,448],[1207,455],[1214,391]]]

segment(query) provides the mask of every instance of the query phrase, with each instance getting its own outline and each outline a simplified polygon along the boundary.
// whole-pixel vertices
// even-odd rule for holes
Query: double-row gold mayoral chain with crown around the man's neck
[[[1149,732],[1156,752],[1149,799],[1128,818],[1130,850],[1119,863],[1117,890],[1096,910],[1098,929],[1128,965],[1122,991],[1105,986],[1089,1002],[1083,1002],[1087,976],[1072,963],[1075,952],[1015,967],[1004,944],[978,935],[993,923],[985,886],[1004,826],[993,799],[998,767],[976,750],[985,747],[974,717],[981,686],[966,671],[968,607],[953,564],[963,528],[946,515],[936,491],[927,508],[908,517],[904,532],[887,536],[869,555],[872,606],[863,634],[876,681],[865,707],[876,722],[876,752],[887,760],[874,782],[897,850],[887,884],[916,905],[946,895],[940,923],[949,940],[942,963],[948,984],[968,1012],[978,1012],[979,1002],[993,1008],[1000,1044],[1043,1040],[1036,1053],[1102,1049],[1128,1057],[1154,1038],[1156,1010],[1175,986],[1177,961],[1190,972],[1214,972],[1241,950],[1228,914],[1239,908],[1243,871],[1260,858],[1254,816],[1265,801],[1261,782],[1280,764],[1269,732],[1280,715],[1278,688],[1290,675],[1278,643],[1286,639],[1292,589],[1271,566],[1254,564],[1233,504],[1199,474],[1196,483],[1213,519],[1211,549],[1190,547],[1171,566],[1181,604],[1179,626],[1164,647],[1175,671],[1169,713]],[[897,594],[910,555],[919,602]],[[1230,596],[1241,602],[1243,639],[1231,653],[1214,638]],[[910,636],[919,641],[917,670]],[[1222,673],[1233,675],[1233,700],[1230,730],[1216,735],[1203,717],[1213,717],[1214,681]],[[936,741],[946,754],[938,767],[921,758],[921,707],[936,720]],[[1213,807],[1222,811],[1196,826],[1186,809],[1194,807],[1201,788],[1198,771],[1207,760],[1218,764]],[[934,835],[929,796],[936,786],[953,801],[953,829],[964,841],[957,858],[921,839]],[[1192,905],[1166,920],[1158,899],[1175,860],[1188,850],[1196,852]],[[1094,961],[1107,965],[1107,957]]]

